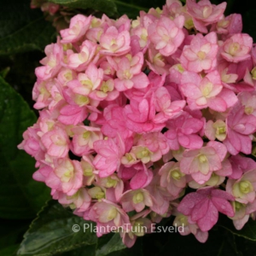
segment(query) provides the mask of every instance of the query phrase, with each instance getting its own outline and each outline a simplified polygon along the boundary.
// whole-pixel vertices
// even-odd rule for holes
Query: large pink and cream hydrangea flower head
[[[256,49],[225,7],[167,0],[137,20],[76,15],[46,46],[38,122],[19,148],[97,236],[124,227],[131,247],[140,227],[173,215],[204,242],[219,212],[237,230],[255,218]]]

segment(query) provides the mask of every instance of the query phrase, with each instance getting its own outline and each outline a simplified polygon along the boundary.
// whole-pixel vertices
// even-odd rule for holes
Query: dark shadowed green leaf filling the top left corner
[[[0,55],[43,50],[55,40],[55,28],[44,20],[40,9],[30,9],[29,0],[1,4]]]

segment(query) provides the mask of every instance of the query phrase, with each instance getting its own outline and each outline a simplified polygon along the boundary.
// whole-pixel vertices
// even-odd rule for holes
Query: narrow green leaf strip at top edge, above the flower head
[[[108,16],[117,14],[117,8],[113,0],[49,0],[49,2],[61,4],[72,9],[96,9]]]

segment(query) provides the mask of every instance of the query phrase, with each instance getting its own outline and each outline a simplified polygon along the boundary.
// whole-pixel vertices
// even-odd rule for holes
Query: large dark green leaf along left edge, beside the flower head
[[[36,121],[22,97],[0,77],[0,218],[34,218],[49,189],[32,180],[34,160],[17,145]]]

